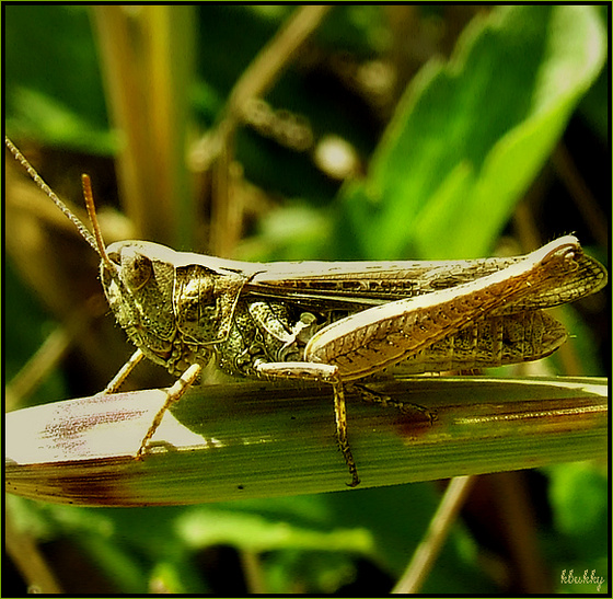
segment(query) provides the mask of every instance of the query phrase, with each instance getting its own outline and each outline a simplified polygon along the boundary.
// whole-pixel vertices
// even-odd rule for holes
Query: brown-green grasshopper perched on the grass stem
[[[524,256],[444,262],[245,263],[146,241],[105,247],[89,176],[82,182],[93,234],[8,138],[5,145],[100,255],[108,303],[137,347],[103,393],[115,392],[144,357],[177,377],[138,460],[166,410],[215,358],[233,376],[328,383],[354,487],[360,481],[347,385],[400,364],[423,373],[543,358],[566,338],[543,309],[606,284],[604,267],[572,235]]]

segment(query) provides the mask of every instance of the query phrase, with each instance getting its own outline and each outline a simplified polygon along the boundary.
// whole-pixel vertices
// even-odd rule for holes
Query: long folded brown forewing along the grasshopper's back
[[[263,264],[243,292],[293,301],[312,309],[359,311],[372,306],[449,289],[505,269],[524,256],[471,261],[301,262]],[[517,313],[576,301],[600,290],[606,270],[577,246],[570,268],[543,280],[518,302],[494,313]]]

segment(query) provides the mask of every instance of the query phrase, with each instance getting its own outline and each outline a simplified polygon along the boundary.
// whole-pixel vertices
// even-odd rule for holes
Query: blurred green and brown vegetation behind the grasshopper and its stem
[[[572,231],[605,261],[606,8],[310,9],[3,7],[7,133],[74,205],[90,173],[107,242],[424,260]],[[36,390],[32,371],[13,380],[8,401],[93,394],[131,349],[105,316],[96,257],[14,185],[8,379],[41,348],[63,359]],[[608,373],[604,302],[565,310],[576,338],[547,372]],[[159,370],[132,385],[167,384]],[[7,518],[15,563],[43,557],[65,592],[379,595],[442,486],[139,509],[9,496]],[[606,488],[604,463],[481,477],[423,591],[595,592],[560,575],[606,574]],[[3,595],[42,584],[7,573]]]

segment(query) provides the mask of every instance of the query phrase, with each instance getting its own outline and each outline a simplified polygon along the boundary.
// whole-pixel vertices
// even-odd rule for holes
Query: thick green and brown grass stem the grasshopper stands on
[[[349,395],[362,487],[535,468],[606,454],[604,379],[414,378],[373,382],[436,415]],[[190,390],[134,459],[161,390],[65,401],[7,416],[7,491],[136,506],[338,491],[348,473],[326,387],[248,382]]]

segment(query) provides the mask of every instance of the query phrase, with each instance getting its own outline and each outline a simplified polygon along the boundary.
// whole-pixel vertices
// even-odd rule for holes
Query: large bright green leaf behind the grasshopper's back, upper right
[[[362,257],[488,254],[605,46],[593,7],[507,7],[474,21],[449,64],[429,64],[407,89],[368,180],[345,192]]]

